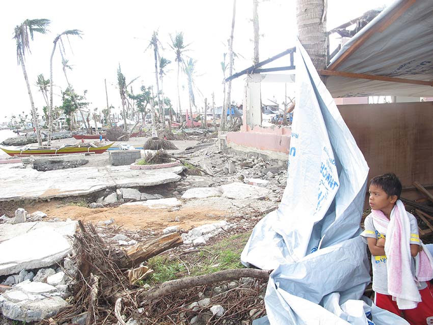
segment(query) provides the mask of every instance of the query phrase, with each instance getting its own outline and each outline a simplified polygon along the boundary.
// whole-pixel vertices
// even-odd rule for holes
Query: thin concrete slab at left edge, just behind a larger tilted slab
[[[76,221],[59,221],[59,222],[25,222],[21,224],[1,224],[0,225],[0,242],[23,235],[31,230],[41,228],[54,229],[62,236],[73,236],[76,230]]]

